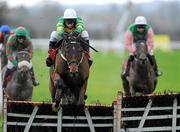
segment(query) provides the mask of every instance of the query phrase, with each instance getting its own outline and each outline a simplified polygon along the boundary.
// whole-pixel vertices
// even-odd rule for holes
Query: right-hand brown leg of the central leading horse
[[[85,101],[84,101],[84,95],[86,93],[86,88],[87,88],[87,81],[84,82],[84,84],[82,85],[80,92],[79,92],[79,99],[77,104],[78,105],[84,105]]]

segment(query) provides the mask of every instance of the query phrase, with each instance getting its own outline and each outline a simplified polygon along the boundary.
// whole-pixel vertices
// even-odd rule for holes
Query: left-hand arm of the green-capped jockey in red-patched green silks
[[[7,46],[6,46],[6,55],[7,55],[8,60],[11,61],[11,63],[16,66],[17,61],[13,56],[13,41],[12,41],[12,39],[13,39],[12,37],[10,39],[8,39]]]

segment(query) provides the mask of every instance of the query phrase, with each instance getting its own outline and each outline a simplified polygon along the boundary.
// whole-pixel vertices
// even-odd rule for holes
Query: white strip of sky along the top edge
[[[39,2],[46,1],[46,0],[4,0],[8,3],[9,7],[15,6],[33,6]],[[108,3],[115,3],[115,4],[123,4],[131,1],[133,3],[142,3],[142,2],[152,2],[155,0],[49,0],[49,1],[57,1],[61,4],[108,4]]]

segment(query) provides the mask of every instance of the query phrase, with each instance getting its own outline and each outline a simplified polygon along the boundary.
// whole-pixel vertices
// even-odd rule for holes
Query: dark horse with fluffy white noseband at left
[[[10,100],[30,101],[33,93],[33,83],[31,79],[30,58],[27,51],[17,52],[17,68],[11,74],[11,79],[7,82],[5,93]],[[3,68],[3,72],[6,66]],[[4,76],[4,75],[3,75]]]

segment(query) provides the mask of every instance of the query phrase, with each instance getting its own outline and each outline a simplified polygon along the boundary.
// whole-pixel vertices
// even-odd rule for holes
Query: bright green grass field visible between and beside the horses
[[[155,92],[179,92],[180,52],[155,51],[155,55],[159,69],[163,72]],[[34,88],[33,101],[51,101],[48,89],[48,67],[45,65],[46,56],[46,51],[35,50],[34,52],[33,64],[40,86]],[[92,56],[94,63],[90,69],[86,103],[111,104],[116,99],[117,91],[123,91],[120,72],[122,62],[127,58],[127,53],[119,55],[113,52],[98,52],[93,53]]]

